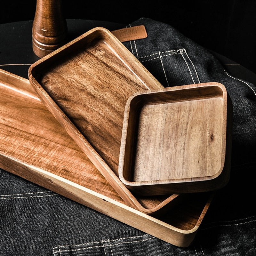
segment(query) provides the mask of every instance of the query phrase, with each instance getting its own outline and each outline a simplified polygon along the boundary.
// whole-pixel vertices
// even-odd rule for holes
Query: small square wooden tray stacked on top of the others
[[[230,176],[231,105],[220,83],[132,95],[124,113],[120,180],[140,195],[224,187]]]

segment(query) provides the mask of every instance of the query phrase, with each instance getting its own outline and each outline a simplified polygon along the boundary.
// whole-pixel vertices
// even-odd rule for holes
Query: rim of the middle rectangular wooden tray
[[[147,76],[154,81],[155,84],[159,88],[164,88],[157,80],[156,78],[148,72],[148,70],[140,63],[139,60],[137,60],[133,54],[114,36],[108,29],[103,27],[96,27],[92,28],[91,30],[85,32],[81,36],[77,37],[76,39],[72,40],[71,42],[61,46],[59,49],[49,53],[48,55],[44,56],[40,60],[37,60],[35,63],[33,63],[29,69],[28,69],[28,79],[29,83],[33,87],[33,89],[36,92],[36,95],[40,98],[40,100],[44,103],[44,105],[49,109],[49,111],[53,114],[53,116],[59,121],[59,123],[66,129],[68,134],[73,138],[73,140],[76,139],[77,145],[84,151],[84,148],[86,152],[84,153],[88,156],[88,158],[92,161],[92,163],[96,166],[96,168],[101,172],[101,174],[108,180],[108,182],[111,184],[111,186],[114,187],[114,189],[117,191],[117,193],[122,197],[122,199],[129,204],[131,207],[147,213],[147,214],[154,214],[158,210],[162,209],[162,207],[166,206],[168,203],[172,201],[172,199],[177,198],[179,195],[171,195],[170,197],[166,198],[162,203],[157,205],[156,207],[152,209],[148,209],[140,204],[138,200],[135,198],[135,196],[132,194],[132,192],[124,186],[124,184],[121,182],[121,180],[117,177],[117,175],[112,171],[112,169],[108,166],[108,164],[102,159],[102,157],[96,152],[96,150],[93,148],[93,146],[86,140],[86,138],[80,133],[78,128],[72,123],[72,121],[65,115],[64,111],[54,102],[54,100],[49,96],[49,94],[44,90],[43,86],[37,81],[37,79],[33,76],[34,70],[37,68],[40,68],[41,65],[43,65],[44,61],[48,61],[51,58],[57,58],[59,54],[62,53],[62,51],[66,51],[69,47],[73,46],[80,40],[83,40],[84,37],[92,34],[95,31],[103,31],[103,33],[106,33],[111,40],[115,42],[115,44],[122,49],[122,51],[125,52],[129,56],[129,58],[132,58],[135,65],[137,67],[140,67],[144,72],[147,73]],[[47,99],[47,100],[46,100]]]

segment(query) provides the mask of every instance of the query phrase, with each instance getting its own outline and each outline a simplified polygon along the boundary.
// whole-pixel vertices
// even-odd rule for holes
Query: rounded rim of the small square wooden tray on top
[[[154,93],[161,93],[161,92],[173,92],[173,91],[182,91],[182,90],[187,90],[187,89],[197,89],[197,88],[207,88],[207,87],[218,87],[220,88],[220,90],[222,91],[222,98],[223,98],[223,123],[222,123],[222,145],[221,145],[221,149],[222,149],[222,154],[221,154],[221,166],[218,172],[216,172],[213,175],[209,175],[206,176],[205,178],[202,179],[202,177],[195,177],[195,178],[184,178],[184,179],[176,179],[175,182],[174,180],[149,180],[149,181],[130,181],[124,178],[124,174],[123,174],[123,169],[124,169],[124,155],[125,155],[125,149],[126,149],[126,141],[127,141],[127,132],[128,132],[128,120],[129,120],[129,112],[130,112],[130,106],[131,106],[131,102],[134,98],[136,98],[137,96],[140,95],[150,95],[150,94],[154,94]],[[131,95],[129,97],[129,99],[126,102],[125,105],[125,110],[124,110],[124,120],[126,122],[124,122],[123,124],[123,131],[122,131],[122,140],[121,140],[121,148],[120,148],[120,156],[119,156],[119,166],[118,166],[118,175],[119,175],[119,179],[124,183],[125,186],[127,186],[130,189],[133,188],[140,188],[140,187],[154,187],[155,188],[157,186],[161,186],[161,185],[171,185],[171,184],[178,184],[178,183],[184,183],[184,184],[192,184],[195,182],[211,182],[212,180],[215,180],[216,178],[218,178],[223,169],[225,168],[225,160],[226,160],[226,148],[227,148],[227,144],[230,143],[230,141],[227,141],[227,127],[228,127],[228,105],[232,105],[232,102],[229,100],[228,97],[228,92],[225,88],[225,86],[219,82],[207,82],[207,83],[199,83],[199,84],[188,84],[188,85],[180,85],[180,86],[173,86],[173,87],[167,87],[167,88],[163,88],[163,89],[158,89],[158,90],[148,90],[148,91],[143,91],[143,92],[136,92],[133,95]],[[226,114],[225,114],[226,113]],[[229,113],[230,114],[230,113]],[[229,158],[228,160],[229,161]],[[225,172],[228,173],[229,175],[229,167],[226,167],[227,170],[224,170]],[[192,181],[191,181],[192,179]],[[224,185],[226,185],[227,182],[223,183],[220,187],[223,187]],[[219,187],[217,187],[218,189]],[[173,190],[173,189],[170,189]],[[175,188],[174,188],[175,190]],[[199,192],[207,192],[207,191],[211,191],[210,190],[204,190],[204,191],[199,191]],[[175,193],[182,193],[182,191],[174,191]],[[188,192],[195,192],[193,191],[193,188],[191,191]],[[197,191],[198,192],[198,191]],[[187,193],[187,192],[186,192]]]

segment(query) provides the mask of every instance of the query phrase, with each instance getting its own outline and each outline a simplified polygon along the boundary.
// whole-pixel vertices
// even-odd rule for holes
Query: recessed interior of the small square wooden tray
[[[220,171],[223,97],[218,89],[138,95],[130,120],[134,141],[127,180],[178,181]]]

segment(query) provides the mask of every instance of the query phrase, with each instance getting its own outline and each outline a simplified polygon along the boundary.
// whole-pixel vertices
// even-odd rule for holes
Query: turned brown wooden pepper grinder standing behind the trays
[[[64,44],[67,22],[62,12],[61,0],[37,0],[32,27],[34,53],[42,58]]]

